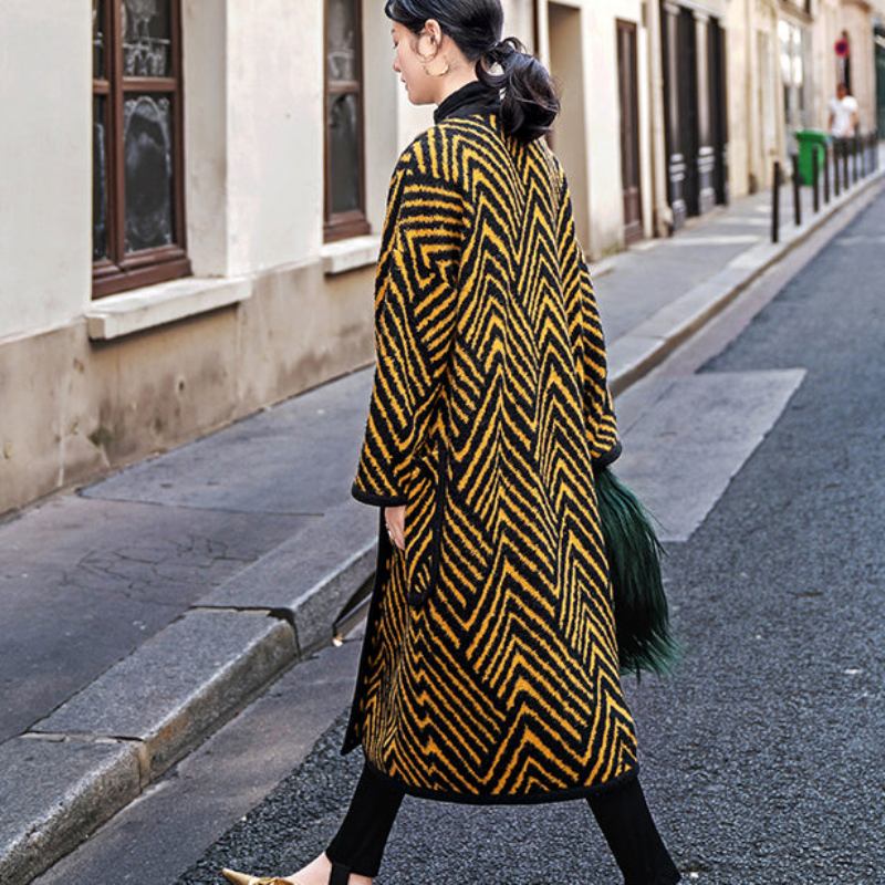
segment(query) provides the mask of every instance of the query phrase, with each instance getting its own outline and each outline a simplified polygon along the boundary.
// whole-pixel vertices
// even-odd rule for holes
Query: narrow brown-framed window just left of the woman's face
[[[360,0],[325,3],[324,239],[368,233],[363,146]]]

